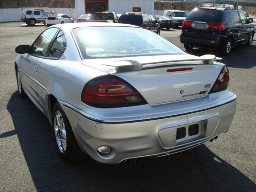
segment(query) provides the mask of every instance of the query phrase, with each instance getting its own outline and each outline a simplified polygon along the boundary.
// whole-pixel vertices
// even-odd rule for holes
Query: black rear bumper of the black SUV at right
[[[192,46],[204,46],[204,47],[218,47],[223,46],[225,39],[224,36],[218,35],[215,39],[209,40],[209,39],[201,39],[201,38],[192,38],[192,37],[186,37],[183,34],[183,31],[180,35],[180,42]]]

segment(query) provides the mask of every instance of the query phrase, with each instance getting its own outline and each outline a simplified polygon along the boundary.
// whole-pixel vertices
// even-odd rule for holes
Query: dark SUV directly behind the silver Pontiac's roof
[[[139,12],[127,12],[120,16],[118,23],[132,24],[147,28],[148,30],[154,31],[160,34],[160,24],[154,19],[154,17],[147,13]]]

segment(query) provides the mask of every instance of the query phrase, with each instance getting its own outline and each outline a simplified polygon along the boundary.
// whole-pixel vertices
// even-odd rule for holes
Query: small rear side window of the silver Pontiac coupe
[[[60,58],[60,56],[65,51],[65,49],[66,49],[66,39],[63,32],[60,31],[52,44],[51,50],[49,52],[49,57]]]

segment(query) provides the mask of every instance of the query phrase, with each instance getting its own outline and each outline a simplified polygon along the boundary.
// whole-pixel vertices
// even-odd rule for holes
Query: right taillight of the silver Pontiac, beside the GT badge
[[[220,72],[220,75],[218,76],[218,79],[214,83],[209,93],[215,93],[215,92],[219,92],[227,89],[228,82],[229,82],[229,71],[228,71],[228,68],[224,66]]]

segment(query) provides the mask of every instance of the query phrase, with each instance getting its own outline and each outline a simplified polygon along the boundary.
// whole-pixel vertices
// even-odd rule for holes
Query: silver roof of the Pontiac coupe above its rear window
[[[122,23],[108,23],[108,22],[81,22],[81,23],[66,23],[66,24],[57,24],[53,25],[49,28],[61,28],[64,31],[70,31],[74,28],[81,28],[81,27],[106,27],[106,26],[114,26],[114,27],[138,27],[135,25],[130,24],[122,24]]]

